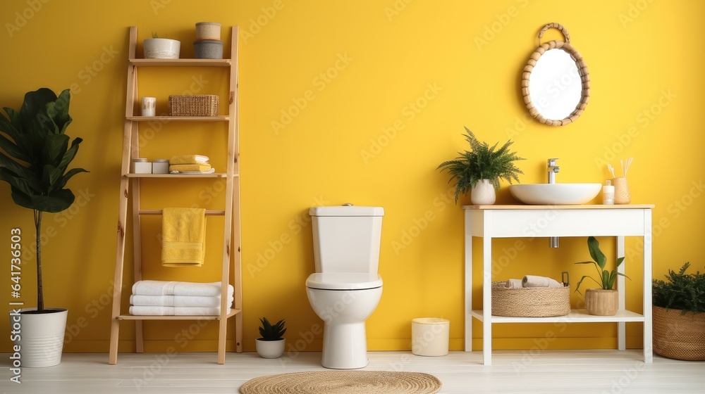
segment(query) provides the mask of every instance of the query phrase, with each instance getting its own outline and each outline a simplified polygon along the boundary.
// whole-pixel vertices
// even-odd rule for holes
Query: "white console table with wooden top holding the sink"
[[[618,350],[625,350],[625,322],[644,323],[644,362],[651,349],[651,209],[654,205],[464,205],[465,210],[465,351],[472,351],[472,318],[482,322],[482,355],[492,363],[493,323],[618,323]],[[482,238],[482,310],[472,310],[472,237]],[[625,280],[618,277],[619,311],[591,316],[572,310],[558,317],[492,316],[492,239],[551,236],[616,236],[617,255],[625,255],[624,237],[644,238],[644,312],[625,309]],[[548,244],[546,245],[548,248]],[[577,260],[576,260],[577,261]],[[631,262],[629,262],[631,263]],[[624,273],[627,260],[618,269]]]

